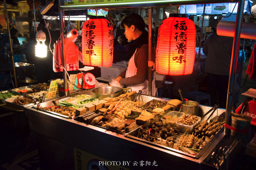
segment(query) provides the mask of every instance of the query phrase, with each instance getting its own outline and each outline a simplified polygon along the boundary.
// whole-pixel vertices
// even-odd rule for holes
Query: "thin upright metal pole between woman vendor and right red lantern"
[[[152,61],[151,59],[151,32],[152,32],[152,16],[151,16],[151,8],[148,9],[148,62]],[[148,95],[152,95],[152,68],[148,67]]]

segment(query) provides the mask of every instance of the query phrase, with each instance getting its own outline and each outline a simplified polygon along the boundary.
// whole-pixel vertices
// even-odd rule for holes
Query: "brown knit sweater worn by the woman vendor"
[[[152,61],[156,62],[156,50],[152,46]],[[132,76],[125,78],[126,70],[124,70],[119,76],[122,79],[119,81],[121,85],[136,85],[143,83],[145,79],[148,80],[148,44],[142,45],[139,49],[137,49],[135,56],[134,56],[135,66],[137,67],[137,73]],[[153,70],[154,71],[154,70]],[[153,78],[153,71],[152,71],[152,78]]]

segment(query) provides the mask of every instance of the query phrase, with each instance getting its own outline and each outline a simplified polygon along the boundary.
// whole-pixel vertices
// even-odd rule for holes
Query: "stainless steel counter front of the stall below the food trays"
[[[81,91],[72,95],[77,94],[90,94],[90,91]],[[143,95],[144,102],[153,98]],[[198,116],[202,116],[210,109],[211,107],[200,105]],[[225,110],[218,109],[212,117],[220,115],[223,111]],[[218,153],[220,147],[228,146],[229,158],[225,158],[229,159],[230,163],[240,143],[237,139],[225,139],[224,128],[222,128],[212,138],[211,143],[207,144],[203,153],[201,151],[200,156],[195,158],[189,154],[156,147],[74,119],[36,110],[32,106],[26,108],[25,112],[28,115],[30,130],[37,134],[40,168],[47,170],[79,169],[80,166],[82,169],[88,169],[89,162],[92,160],[120,161],[121,166],[124,165],[123,161],[130,161],[129,166],[126,164],[122,167],[123,169],[218,169],[217,163],[213,165],[212,152]],[[81,165],[76,152],[83,153]],[[146,161],[151,164],[146,166]],[[219,169],[225,169],[223,156],[219,164]],[[113,166],[113,162],[111,165],[108,166],[109,169],[121,169],[117,165]],[[104,166],[99,167],[104,169]]]

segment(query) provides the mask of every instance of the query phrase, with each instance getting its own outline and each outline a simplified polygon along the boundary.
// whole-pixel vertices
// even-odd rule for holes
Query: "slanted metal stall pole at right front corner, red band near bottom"
[[[225,124],[228,124],[228,125],[230,125],[230,121],[231,121],[231,106],[233,103],[236,63],[237,63],[237,57],[239,54],[239,41],[240,41],[240,33],[241,33],[242,22],[243,22],[244,1],[245,0],[239,1],[237,15],[236,15],[236,28],[235,28],[233,50],[232,50],[231,62],[230,62],[228,94],[227,94],[226,115],[225,115]],[[225,127],[224,131],[225,131],[225,138],[229,139],[230,129]]]

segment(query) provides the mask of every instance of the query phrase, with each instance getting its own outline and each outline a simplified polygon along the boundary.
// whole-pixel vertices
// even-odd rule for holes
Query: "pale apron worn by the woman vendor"
[[[134,62],[134,56],[135,56],[136,51],[137,51],[137,49],[135,50],[134,54],[132,55],[132,58],[129,60],[125,78],[132,77],[132,76],[136,75],[136,73],[137,73],[137,67]],[[155,80],[156,80],[156,72],[154,72],[154,77],[153,77],[153,81],[152,81],[152,96],[156,96]],[[137,93],[139,92],[139,90],[142,90],[142,94],[148,95],[148,80],[146,79],[143,83],[132,85],[127,88],[131,88],[132,91],[136,91]]]

